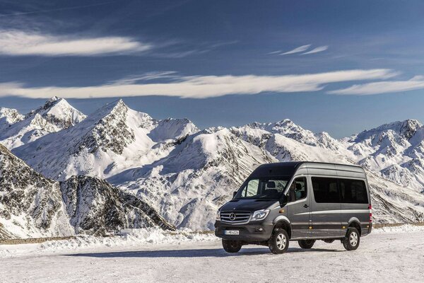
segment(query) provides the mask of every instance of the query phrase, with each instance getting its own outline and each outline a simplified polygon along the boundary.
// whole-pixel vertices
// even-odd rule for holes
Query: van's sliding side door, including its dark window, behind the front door
[[[341,203],[338,179],[311,177],[311,218],[313,238],[334,238],[343,236],[341,226]]]

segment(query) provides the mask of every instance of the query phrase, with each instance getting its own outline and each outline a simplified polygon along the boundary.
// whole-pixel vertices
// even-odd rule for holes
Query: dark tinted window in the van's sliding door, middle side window
[[[312,189],[317,203],[340,202],[336,178],[312,177]]]

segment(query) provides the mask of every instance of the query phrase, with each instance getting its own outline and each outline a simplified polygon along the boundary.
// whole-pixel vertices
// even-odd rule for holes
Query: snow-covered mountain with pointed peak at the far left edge
[[[86,118],[66,100],[56,96],[27,115],[20,115],[17,110],[7,108],[1,108],[0,113],[0,144],[8,149],[66,129]]]

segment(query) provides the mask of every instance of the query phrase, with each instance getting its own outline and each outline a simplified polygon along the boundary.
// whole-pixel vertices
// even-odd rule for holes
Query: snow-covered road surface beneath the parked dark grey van
[[[340,241],[312,250],[290,243],[271,255],[247,246],[230,255],[219,241],[0,258],[0,282],[423,282],[424,232],[372,233],[353,252]]]

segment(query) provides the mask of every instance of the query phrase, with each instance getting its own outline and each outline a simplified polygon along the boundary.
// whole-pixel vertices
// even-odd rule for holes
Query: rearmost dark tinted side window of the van
[[[367,187],[363,180],[340,179],[341,202],[367,204]]]

